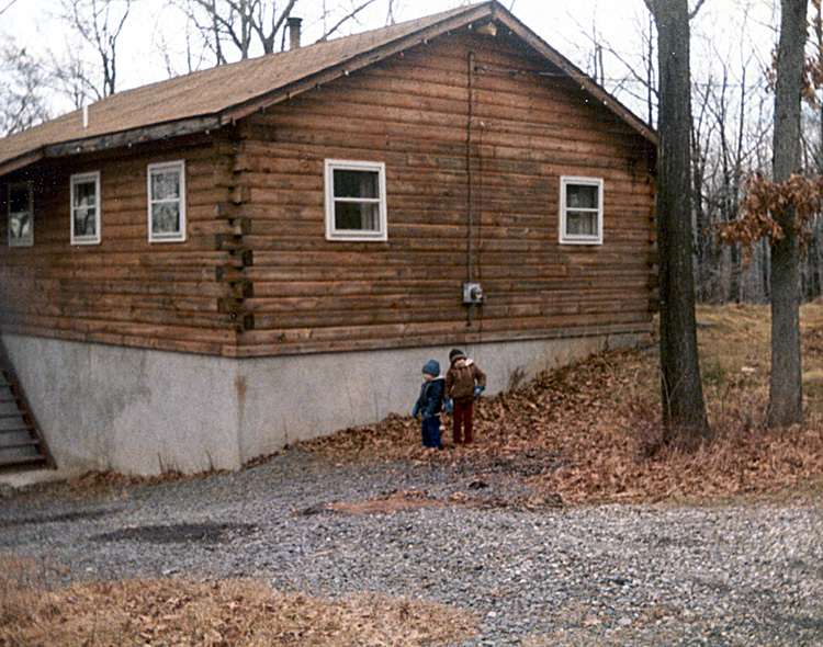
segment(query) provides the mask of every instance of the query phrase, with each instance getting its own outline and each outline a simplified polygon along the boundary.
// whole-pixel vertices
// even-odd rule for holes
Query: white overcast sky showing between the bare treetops
[[[301,0],[296,11],[305,18],[304,44],[323,34],[317,15],[325,5],[353,0]],[[591,71],[593,39],[616,49],[620,57],[638,67],[642,50],[641,32],[649,30],[649,18],[643,0],[501,0],[506,8],[537,32],[555,49],[585,71]],[[60,0],[0,0],[0,35],[16,37],[18,44],[35,54],[47,48],[60,52],[67,45],[66,27],[54,16]],[[282,3],[282,2],[281,2]],[[465,4],[461,0],[399,0],[396,19],[412,20]],[[179,12],[165,8],[166,0],[134,0],[134,9],[126,23],[128,34],[119,41],[117,88],[125,90],[168,77],[166,64],[158,54],[161,39],[169,48],[184,52],[183,25]],[[363,15],[360,24],[349,29],[363,31],[385,24],[385,3]],[[719,60],[740,65],[754,57],[763,68],[773,48],[776,5],[778,0],[707,0],[692,23],[692,76],[708,75],[708,67]],[[730,37],[730,35],[733,35]],[[606,55],[606,87],[625,76],[625,65]],[[174,71],[188,71],[184,58],[174,61]],[[749,73],[751,70],[749,70]],[[751,78],[751,77],[749,77]],[[638,111],[636,102],[619,95],[627,105]],[[645,115],[641,115],[645,116]]]

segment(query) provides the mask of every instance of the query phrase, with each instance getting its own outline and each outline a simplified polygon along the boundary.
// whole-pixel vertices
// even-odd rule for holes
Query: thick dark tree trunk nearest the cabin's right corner
[[[659,61],[657,253],[663,422],[696,445],[706,436],[691,262],[691,81],[687,0],[651,0]]]

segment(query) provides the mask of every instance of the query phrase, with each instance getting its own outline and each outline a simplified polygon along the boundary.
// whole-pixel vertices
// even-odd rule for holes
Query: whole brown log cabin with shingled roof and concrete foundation
[[[292,30],[298,29],[293,21]],[[646,340],[656,135],[496,1],[0,140],[0,332],[60,467],[235,469]]]

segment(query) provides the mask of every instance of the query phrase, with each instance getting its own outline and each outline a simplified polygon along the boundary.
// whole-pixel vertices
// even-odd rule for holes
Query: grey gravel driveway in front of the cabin
[[[66,580],[255,576],[317,595],[428,598],[477,614],[460,647],[823,645],[820,496],[529,510],[500,504],[528,493],[509,477],[291,450],[203,479],[2,498],[0,553],[46,558]],[[495,504],[326,507],[392,490]]]

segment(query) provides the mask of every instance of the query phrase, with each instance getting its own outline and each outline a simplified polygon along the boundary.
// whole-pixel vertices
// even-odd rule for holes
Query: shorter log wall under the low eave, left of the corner
[[[215,217],[228,189],[215,170],[230,167],[207,140],[136,147],[123,155],[86,155],[35,167],[34,246],[9,249],[2,238],[0,290],[8,332],[165,350],[234,354],[235,297],[218,283],[230,263],[217,237],[232,234]],[[148,242],[149,163],[185,160],[187,241]],[[70,245],[69,177],[101,173],[102,242]],[[20,175],[25,180],[25,174]],[[0,186],[2,213],[5,186]]]

